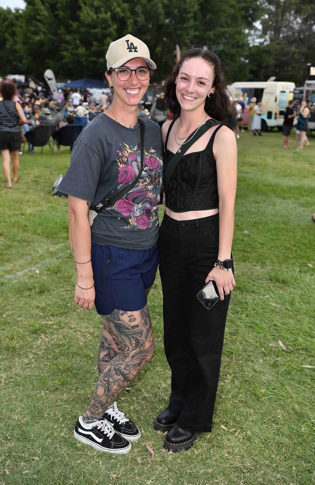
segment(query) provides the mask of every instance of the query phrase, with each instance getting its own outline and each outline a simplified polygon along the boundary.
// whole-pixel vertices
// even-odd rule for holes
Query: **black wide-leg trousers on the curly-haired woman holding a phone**
[[[190,221],[164,215],[159,233],[164,347],[172,371],[168,409],[178,426],[209,432],[230,295],[207,310],[196,295],[218,258],[219,214]]]

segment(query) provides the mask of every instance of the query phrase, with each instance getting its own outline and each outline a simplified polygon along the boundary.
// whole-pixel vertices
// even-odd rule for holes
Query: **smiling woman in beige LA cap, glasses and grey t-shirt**
[[[156,123],[137,117],[156,69],[147,46],[126,35],[110,44],[106,60],[113,101],[80,134],[59,190],[68,195],[74,303],[103,315],[99,379],[74,436],[99,451],[128,453],[141,433],[115,400],[154,352],[146,296],[158,265],[162,140]]]

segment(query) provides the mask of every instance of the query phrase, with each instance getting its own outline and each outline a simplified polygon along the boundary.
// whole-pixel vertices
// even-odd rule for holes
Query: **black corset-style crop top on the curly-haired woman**
[[[167,141],[173,123],[171,123],[165,141],[163,171],[165,171],[174,153],[167,148]],[[189,210],[209,210],[219,207],[216,159],[213,155],[213,142],[220,124],[212,133],[204,150],[183,155],[174,169],[167,191],[165,205],[173,212]]]

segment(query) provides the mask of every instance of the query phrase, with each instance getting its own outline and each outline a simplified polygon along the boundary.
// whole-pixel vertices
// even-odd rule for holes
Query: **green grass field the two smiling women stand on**
[[[241,133],[228,314],[214,429],[168,454],[152,421],[165,404],[159,278],[149,295],[156,354],[118,399],[142,438],[128,455],[73,438],[97,379],[101,318],[72,303],[66,199],[52,182],[70,152],[21,156],[0,187],[2,485],[312,485],[315,372],[315,140],[284,150],[281,134]],[[146,448],[155,453],[152,457]]]

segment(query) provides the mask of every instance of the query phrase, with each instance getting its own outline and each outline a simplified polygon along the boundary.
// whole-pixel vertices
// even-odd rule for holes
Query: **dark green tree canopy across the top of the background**
[[[26,0],[24,10],[0,8],[0,74],[58,80],[101,79],[110,42],[132,33],[150,49],[161,81],[175,46],[207,45],[233,81],[270,76],[300,84],[315,62],[313,0]]]

